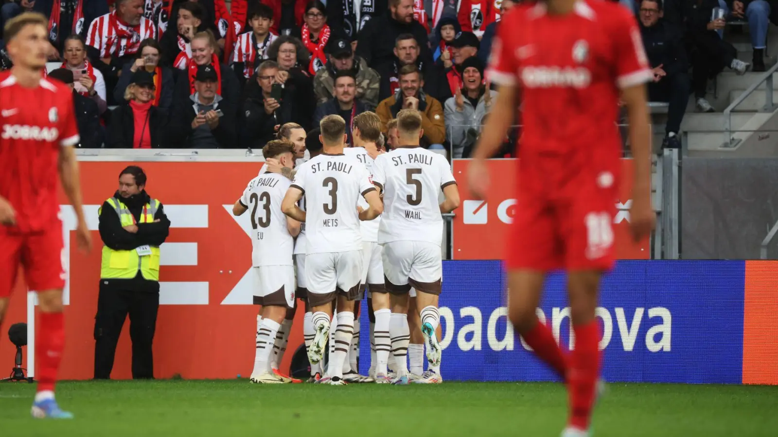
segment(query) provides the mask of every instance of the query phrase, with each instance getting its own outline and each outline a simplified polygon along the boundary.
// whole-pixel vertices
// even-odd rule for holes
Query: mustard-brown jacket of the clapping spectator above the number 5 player
[[[422,129],[424,135],[420,145],[429,148],[429,145],[443,144],[446,141],[446,124],[443,119],[443,107],[434,97],[427,96],[423,89],[416,94],[419,98],[419,112],[422,114]],[[387,123],[397,117],[402,109],[402,90],[398,89],[394,96],[378,103],[376,114],[381,119],[381,131],[387,135]]]

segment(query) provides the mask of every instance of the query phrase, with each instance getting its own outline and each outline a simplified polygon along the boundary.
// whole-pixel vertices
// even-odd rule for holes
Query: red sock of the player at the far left
[[[40,313],[40,329],[35,336],[38,391],[54,391],[57,370],[65,348],[65,317],[62,313]]]

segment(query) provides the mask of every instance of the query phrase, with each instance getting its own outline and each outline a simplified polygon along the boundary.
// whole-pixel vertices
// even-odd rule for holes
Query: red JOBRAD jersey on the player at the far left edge
[[[79,142],[72,91],[47,79],[24,88],[11,72],[0,72],[0,123],[0,196],[16,210],[11,229],[51,226],[59,212],[59,150]]]

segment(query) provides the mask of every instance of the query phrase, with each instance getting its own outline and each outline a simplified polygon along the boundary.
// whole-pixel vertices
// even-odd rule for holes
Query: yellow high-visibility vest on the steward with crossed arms
[[[127,208],[127,205],[118,198],[107,200],[108,205],[114,208],[116,214],[121,220],[122,226],[134,225],[135,217]],[[151,223],[154,221],[154,215],[159,209],[159,201],[152,199],[143,208],[141,219],[137,223]],[[97,214],[103,212],[101,206]],[[141,254],[141,253],[146,254]],[[141,272],[143,278],[149,281],[159,281],[159,246],[149,246],[133,250],[113,250],[103,245],[103,262],[100,267],[100,278],[102,279],[132,279]]]

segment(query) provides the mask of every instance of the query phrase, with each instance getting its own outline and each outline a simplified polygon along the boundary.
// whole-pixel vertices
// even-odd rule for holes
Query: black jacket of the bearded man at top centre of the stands
[[[419,43],[419,59],[432,62],[433,55],[429,50],[427,30],[424,26],[416,20],[410,24],[400,23],[391,16],[380,16],[367,22],[359,32],[356,54],[367,61],[370,68],[380,73],[379,68],[391,65],[394,61],[395,40],[402,33],[411,33]]]

